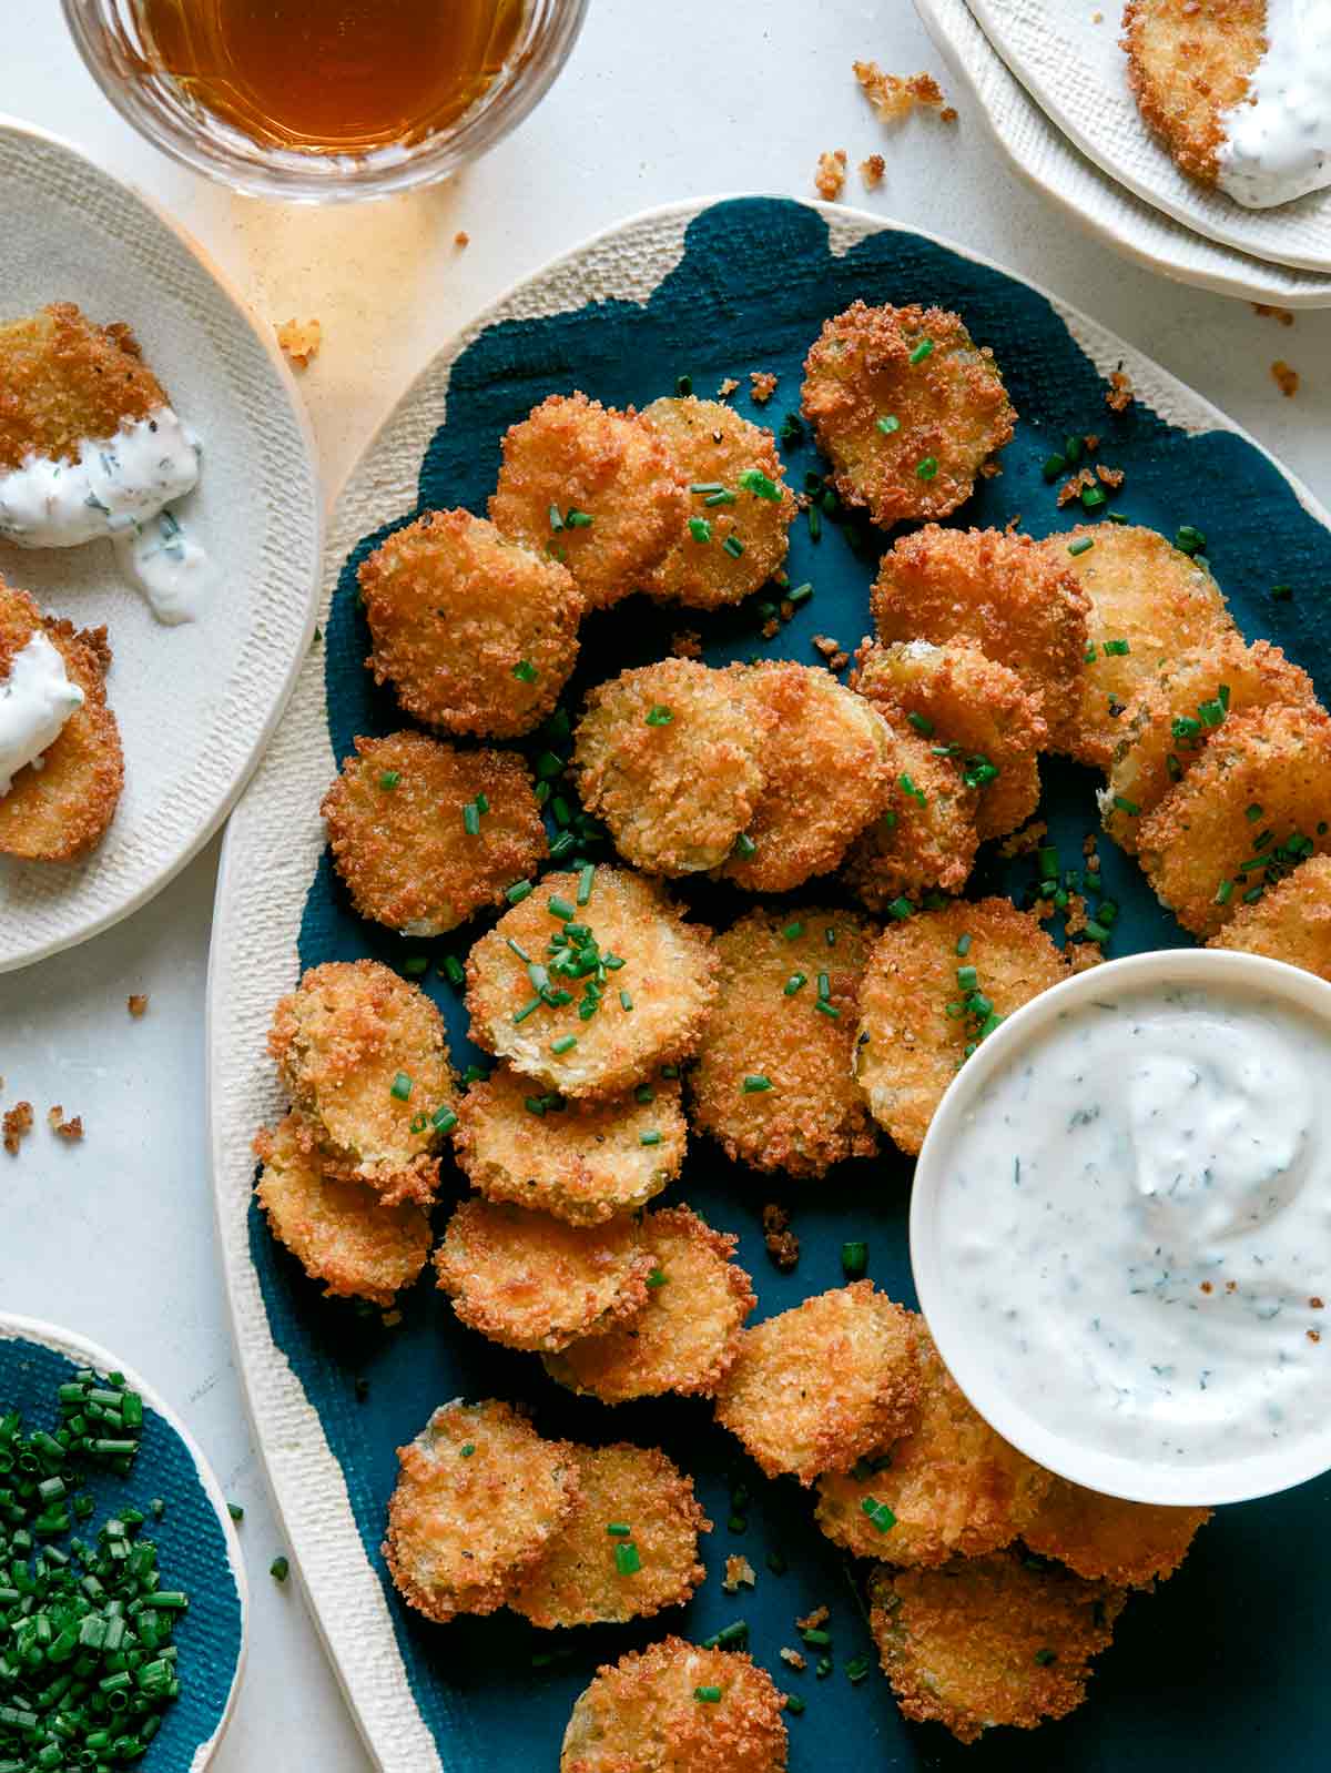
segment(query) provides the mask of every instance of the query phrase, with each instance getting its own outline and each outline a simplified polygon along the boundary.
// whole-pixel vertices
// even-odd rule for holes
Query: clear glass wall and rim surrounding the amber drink
[[[347,202],[441,179],[502,142],[549,90],[587,0],[526,0],[518,41],[486,92],[418,142],[365,154],[301,152],[250,140],[167,73],[145,66],[126,0],[60,0],[78,53],[115,110],[172,160],[257,197]],[[386,0],[392,4],[392,0]]]

